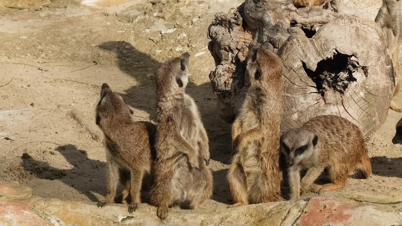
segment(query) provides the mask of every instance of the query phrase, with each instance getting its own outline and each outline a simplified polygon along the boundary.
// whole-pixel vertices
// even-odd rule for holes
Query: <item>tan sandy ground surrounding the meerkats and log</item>
[[[215,190],[207,205],[214,209],[231,204],[225,179],[230,125],[215,113],[216,97],[208,78],[214,62],[206,33],[216,12],[233,11],[241,2],[122,0],[110,1],[112,6],[84,6],[74,0],[32,2],[26,10],[0,4],[0,180],[20,181],[41,197],[98,201],[106,193],[103,142],[68,111],[75,109],[84,123],[96,128],[94,106],[99,86],[107,82],[124,94],[136,120],[152,121],[154,70],[164,60],[189,51],[192,74],[187,92],[199,106],[210,139]],[[363,1],[345,3],[357,8]],[[381,1],[364,3],[356,12],[374,19]],[[344,189],[321,195],[401,193],[402,146],[391,142],[400,117],[389,111],[387,121],[367,143],[372,177],[349,179]]]

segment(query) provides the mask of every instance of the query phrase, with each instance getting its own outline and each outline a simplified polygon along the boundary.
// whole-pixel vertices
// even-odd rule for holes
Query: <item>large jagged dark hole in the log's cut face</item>
[[[336,51],[332,58],[321,60],[315,71],[310,70],[306,63],[301,61],[304,71],[316,84],[318,92],[324,97],[326,90],[335,90],[345,94],[349,84],[357,81],[354,73],[358,72],[367,77],[367,67],[360,66],[354,55],[342,54]]]

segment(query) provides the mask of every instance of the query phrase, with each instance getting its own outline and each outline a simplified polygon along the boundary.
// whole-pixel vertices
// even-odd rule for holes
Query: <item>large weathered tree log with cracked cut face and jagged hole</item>
[[[281,129],[318,115],[340,115],[365,137],[385,121],[395,88],[394,62],[381,28],[354,16],[341,0],[295,8],[292,0],[246,0],[208,29],[217,112],[231,123],[240,109],[252,42],[270,43],[283,61]]]

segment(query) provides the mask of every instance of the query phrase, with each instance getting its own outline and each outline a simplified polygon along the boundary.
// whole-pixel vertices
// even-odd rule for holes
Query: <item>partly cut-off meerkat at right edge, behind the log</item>
[[[400,84],[402,82],[399,64],[399,51],[402,43],[402,0],[383,0],[382,6],[375,17],[375,22],[378,23],[384,31],[388,49],[395,63],[395,97],[395,95],[399,93]],[[398,107],[394,101],[391,101],[390,108],[396,112],[402,112],[402,107]]]

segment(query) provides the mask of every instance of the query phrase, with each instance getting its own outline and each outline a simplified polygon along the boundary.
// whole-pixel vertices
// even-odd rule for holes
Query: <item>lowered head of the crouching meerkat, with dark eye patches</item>
[[[280,143],[287,165],[293,166],[312,156],[318,144],[318,136],[306,129],[293,129],[282,134]]]

